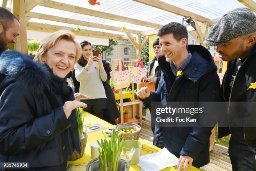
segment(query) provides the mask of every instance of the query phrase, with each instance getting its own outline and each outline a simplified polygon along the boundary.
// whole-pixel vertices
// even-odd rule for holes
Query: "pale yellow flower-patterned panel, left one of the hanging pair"
[[[130,86],[131,71],[114,71],[110,72],[111,79],[116,89],[123,89]]]

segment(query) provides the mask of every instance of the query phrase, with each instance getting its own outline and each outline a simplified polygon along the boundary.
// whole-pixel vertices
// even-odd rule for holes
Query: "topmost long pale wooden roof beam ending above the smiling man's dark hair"
[[[123,17],[120,15],[115,15],[115,14],[110,14],[110,13],[105,13],[97,10],[91,10],[89,8],[82,8],[74,5],[69,5],[65,3],[59,3],[53,0],[42,0],[38,5],[44,6],[44,7],[49,7],[49,8],[54,8],[58,10],[65,10],[73,13],[79,13],[79,14],[84,14],[84,15],[90,15],[94,17],[99,17],[99,18],[106,18],[109,20],[116,20],[116,21],[121,21],[125,23],[132,23],[136,24],[139,26],[146,26],[146,27],[151,27],[151,28],[161,28],[160,24],[156,23],[151,23],[143,20],[137,20],[133,18],[128,18],[128,17]]]

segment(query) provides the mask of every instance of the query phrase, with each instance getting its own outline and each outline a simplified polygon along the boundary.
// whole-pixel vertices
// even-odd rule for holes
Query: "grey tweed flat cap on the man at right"
[[[223,15],[210,27],[204,43],[219,46],[256,31],[256,16],[249,8],[236,8]]]

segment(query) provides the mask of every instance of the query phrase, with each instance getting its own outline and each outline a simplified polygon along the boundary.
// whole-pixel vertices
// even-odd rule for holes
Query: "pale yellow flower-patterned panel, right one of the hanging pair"
[[[128,66],[129,71],[131,71],[131,82],[141,83],[141,78],[146,77],[148,69],[139,68],[134,66]]]

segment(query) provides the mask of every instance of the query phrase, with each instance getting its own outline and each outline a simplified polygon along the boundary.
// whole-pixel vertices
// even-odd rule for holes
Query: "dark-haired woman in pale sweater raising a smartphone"
[[[92,44],[88,41],[82,41],[80,45],[82,56],[75,64],[74,69],[76,79],[80,82],[79,92],[90,96],[90,99],[81,99],[81,102],[87,104],[85,111],[102,119],[107,106],[102,81],[107,80],[107,74],[100,55],[92,55]]]

